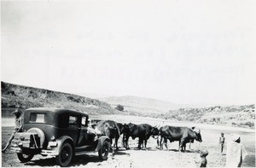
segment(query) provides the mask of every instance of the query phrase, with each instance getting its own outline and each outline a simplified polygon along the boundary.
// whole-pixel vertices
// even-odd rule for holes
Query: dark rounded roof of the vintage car
[[[65,108],[57,108],[57,107],[32,107],[26,109],[26,111],[38,111],[38,112],[48,112],[48,113],[77,113],[77,114],[85,114],[88,116],[87,113],[71,110],[71,109],[65,109]]]

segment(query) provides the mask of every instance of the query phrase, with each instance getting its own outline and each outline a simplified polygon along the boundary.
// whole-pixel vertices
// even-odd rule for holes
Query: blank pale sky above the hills
[[[256,1],[1,1],[1,81],[173,103],[250,104]]]

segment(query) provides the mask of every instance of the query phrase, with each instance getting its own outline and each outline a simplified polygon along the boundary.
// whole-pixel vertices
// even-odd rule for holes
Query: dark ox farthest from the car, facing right
[[[202,142],[201,140],[201,132],[192,130],[188,127],[175,127],[175,126],[162,126],[160,127],[160,148],[163,148],[162,141],[164,140],[165,146],[167,148],[167,140],[170,142],[178,141],[178,151],[180,149],[186,148],[186,143],[190,141],[198,141]]]

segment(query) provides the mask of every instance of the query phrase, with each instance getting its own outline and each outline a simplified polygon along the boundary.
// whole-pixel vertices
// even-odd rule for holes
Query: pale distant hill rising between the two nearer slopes
[[[99,100],[108,102],[112,107],[120,104],[125,107],[125,110],[137,113],[166,113],[169,110],[189,107],[189,105],[137,96],[109,96]]]

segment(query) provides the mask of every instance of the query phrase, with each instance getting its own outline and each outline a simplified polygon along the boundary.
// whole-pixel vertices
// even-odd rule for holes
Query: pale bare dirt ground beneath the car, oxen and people
[[[191,125],[191,123],[182,124],[175,122],[166,122],[149,118],[133,118],[127,116],[108,116],[110,119],[117,120],[119,122],[133,123],[148,123],[151,125]],[[108,119],[106,116],[102,116],[103,119]],[[137,120],[136,120],[137,119]],[[156,123],[155,123],[156,122]],[[13,125],[12,119],[2,119],[2,148],[6,144]],[[130,150],[125,150],[122,144],[119,142],[119,151],[115,155],[109,155],[108,160],[100,161],[97,154],[90,154],[75,157],[72,167],[88,166],[88,167],[199,167],[201,160],[197,151],[201,149],[207,149],[209,155],[207,156],[208,167],[224,167],[225,165],[225,152],[220,154],[220,148],[218,147],[218,137],[220,132],[224,132],[226,136],[226,142],[230,140],[230,133],[237,133],[241,136],[241,143],[247,150],[247,157],[243,160],[242,167],[255,167],[255,130],[241,130],[232,129],[227,127],[216,128],[212,125],[196,125],[201,129],[201,135],[203,142],[195,142],[191,145],[191,149],[187,146],[185,153],[177,151],[177,142],[168,142],[169,150],[160,150],[156,145],[156,140],[152,137],[148,140],[147,149],[137,149],[137,139],[129,141]],[[50,157],[43,157],[41,155],[35,156],[30,162],[26,164],[20,163],[16,154],[11,150],[7,150],[5,154],[2,154],[2,166],[9,167],[37,167],[37,166],[50,166],[58,167],[55,165],[55,159]]]

